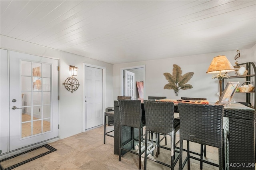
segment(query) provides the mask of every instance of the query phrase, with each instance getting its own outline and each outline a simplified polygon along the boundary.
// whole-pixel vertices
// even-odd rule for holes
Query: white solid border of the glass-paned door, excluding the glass
[[[13,69],[18,68],[20,70],[17,71],[21,71],[21,66],[20,65],[20,61],[24,60],[24,61],[31,61],[31,62],[39,62],[39,63],[49,63],[49,65],[51,65],[49,68],[52,69],[52,71],[50,71],[50,78],[52,79],[51,81],[51,88],[50,88],[50,93],[51,93],[51,102],[50,102],[50,122],[51,122],[51,129],[47,132],[43,132],[41,131],[39,134],[34,134],[32,136],[29,137],[22,137],[19,136],[20,133],[20,123],[21,123],[21,114],[18,115],[18,113],[21,113],[21,111],[12,111],[11,109],[9,109],[9,114],[10,114],[10,141],[9,141],[9,148],[10,150],[16,150],[16,149],[20,149],[23,147],[27,147],[29,145],[34,145],[37,143],[40,143],[42,141],[46,141],[46,140],[51,140],[53,138],[57,138],[58,137],[58,113],[59,113],[59,109],[58,109],[58,80],[56,80],[56,78],[58,78],[58,60],[56,59],[51,59],[48,57],[41,57],[38,55],[30,55],[30,54],[26,54],[26,53],[20,53],[20,52],[16,52],[16,51],[9,51],[9,62],[12,63],[12,66],[9,65],[9,73],[15,73],[16,74],[16,70]],[[14,72],[13,72],[14,71]],[[9,78],[9,83],[10,83],[10,100],[12,99],[12,97],[17,97],[17,95],[21,95],[22,91],[20,91],[21,89],[13,89],[13,85],[15,84],[19,84],[21,82],[21,77],[20,73],[17,75],[18,77],[12,77]],[[32,75],[30,75],[32,76]],[[46,76],[48,77],[48,76]],[[55,80],[53,81],[55,77]],[[15,79],[15,80],[14,80]],[[30,89],[31,91],[32,89]],[[19,101],[19,97],[14,98],[17,99],[17,103],[12,103],[10,101],[10,107],[12,107],[12,105],[18,105],[18,107],[21,106],[21,101]],[[12,104],[11,104],[12,103]],[[16,115],[16,116],[15,116]],[[18,116],[17,116],[18,115]],[[14,121],[15,120],[15,121]],[[16,123],[16,121],[18,121],[18,123]],[[42,121],[42,120],[41,120]],[[17,125],[18,124],[18,125]],[[15,128],[17,126],[17,128]],[[18,131],[17,131],[18,130]],[[18,144],[16,143],[18,142]]]

